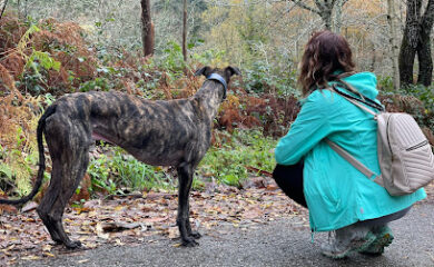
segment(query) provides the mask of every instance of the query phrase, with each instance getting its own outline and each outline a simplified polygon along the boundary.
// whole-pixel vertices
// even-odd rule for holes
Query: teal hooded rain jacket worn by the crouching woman
[[[344,80],[371,99],[378,95],[376,77],[371,72]],[[423,188],[406,196],[388,195],[324,141],[328,137],[379,174],[376,127],[372,115],[329,90],[315,90],[304,99],[290,130],[278,141],[275,157],[280,165],[304,159],[304,194],[313,231],[335,230],[386,216],[426,197]]]

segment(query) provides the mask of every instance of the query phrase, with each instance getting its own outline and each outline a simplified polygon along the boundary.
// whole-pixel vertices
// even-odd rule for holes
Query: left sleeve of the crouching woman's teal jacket
[[[332,132],[329,118],[337,116],[338,112],[335,100],[329,91],[315,91],[307,98],[288,134],[277,144],[275,149],[277,164],[297,164]]]

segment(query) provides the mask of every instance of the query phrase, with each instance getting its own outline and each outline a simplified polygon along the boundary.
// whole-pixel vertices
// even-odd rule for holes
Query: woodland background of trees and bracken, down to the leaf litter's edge
[[[6,4],[6,6],[4,6]],[[389,110],[413,113],[434,144],[434,0],[2,0],[0,195],[28,192],[36,125],[63,93],[120,90],[149,99],[193,95],[201,66],[238,67],[215,120],[195,189],[238,188],[274,167],[274,148],[298,112],[297,65],[313,31],[349,41],[357,70],[378,77]],[[75,201],[176,187],[170,168],[98,144]],[[50,168],[47,169],[47,180]]]

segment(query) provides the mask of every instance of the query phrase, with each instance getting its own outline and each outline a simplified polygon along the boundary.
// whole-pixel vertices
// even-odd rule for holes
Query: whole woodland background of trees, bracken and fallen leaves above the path
[[[299,111],[304,44],[324,28],[343,34],[357,70],[377,75],[386,108],[412,113],[434,145],[433,23],[434,0],[0,0],[0,197],[30,191],[38,119],[60,96],[183,98],[204,81],[196,69],[231,65],[243,76],[231,79],[195,174],[193,225],[247,228],[298,216],[307,229],[306,209],[269,178],[272,149]],[[0,206],[0,265],[65,253],[34,211],[49,182],[48,150],[46,158],[34,201]],[[172,168],[103,142],[90,159],[63,215],[73,239],[89,249],[178,236]],[[434,185],[425,189],[432,201]]]

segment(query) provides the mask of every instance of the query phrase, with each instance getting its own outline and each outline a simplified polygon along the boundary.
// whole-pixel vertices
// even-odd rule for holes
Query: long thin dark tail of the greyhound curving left
[[[37,141],[38,141],[38,150],[39,150],[39,170],[38,170],[38,177],[34,182],[33,189],[29,195],[26,197],[22,197],[21,199],[0,199],[0,204],[8,204],[8,205],[20,205],[29,201],[37,195],[39,188],[42,185],[43,179],[43,171],[46,170],[46,156],[43,155],[43,129],[46,127],[46,119],[53,115],[56,112],[56,105],[51,105],[47,108],[46,112],[43,112],[42,117],[38,121],[38,128],[37,128]]]

